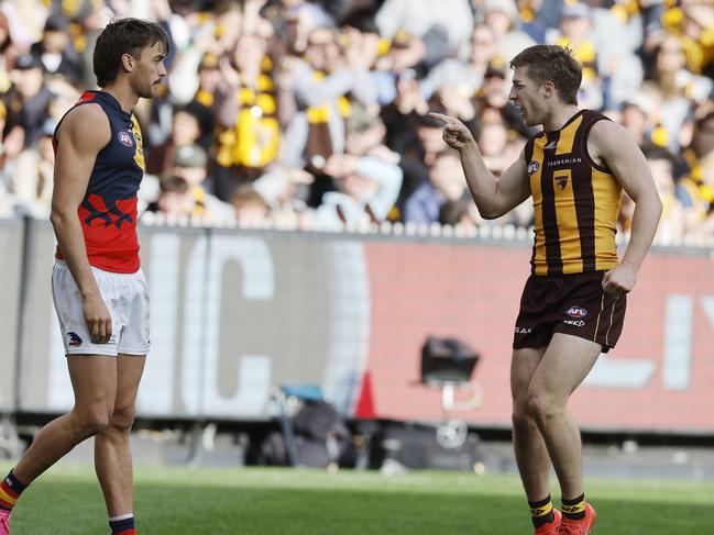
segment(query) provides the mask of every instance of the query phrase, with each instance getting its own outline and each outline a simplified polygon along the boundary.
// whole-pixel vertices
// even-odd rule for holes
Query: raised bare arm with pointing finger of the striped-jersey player
[[[486,167],[475,140],[461,121],[433,112],[429,113],[429,116],[444,124],[443,141],[451,148],[459,151],[469,191],[483,218],[499,218],[530,197],[523,153],[497,178]]]

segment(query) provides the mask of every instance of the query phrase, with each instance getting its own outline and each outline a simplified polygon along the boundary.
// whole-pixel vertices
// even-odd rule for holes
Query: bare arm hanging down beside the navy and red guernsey
[[[87,192],[97,154],[110,137],[109,121],[99,105],[80,105],[67,114],[57,132],[50,216],[59,250],[81,292],[85,320],[92,342],[99,344],[107,343],[111,336],[111,315],[89,267],[77,210]]]

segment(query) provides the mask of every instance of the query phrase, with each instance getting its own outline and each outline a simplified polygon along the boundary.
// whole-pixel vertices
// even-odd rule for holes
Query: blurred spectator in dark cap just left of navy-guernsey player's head
[[[70,83],[83,79],[81,57],[75,51],[69,36],[69,21],[63,13],[47,16],[42,38],[30,47],[30,54],[42,66],[45,75],[61,76]]]

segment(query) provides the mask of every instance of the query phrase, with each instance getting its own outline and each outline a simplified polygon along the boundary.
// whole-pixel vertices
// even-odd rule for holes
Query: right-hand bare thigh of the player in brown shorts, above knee
[[[597,361],[602,346],[591,339],[554,333],[530,381],[530,393],[567,400]]]

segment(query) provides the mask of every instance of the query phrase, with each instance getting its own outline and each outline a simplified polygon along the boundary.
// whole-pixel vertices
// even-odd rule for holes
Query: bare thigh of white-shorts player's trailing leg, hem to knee
[[[67,355],[75,411],[91,417],[111,415],[117,398],[117,357]]]

